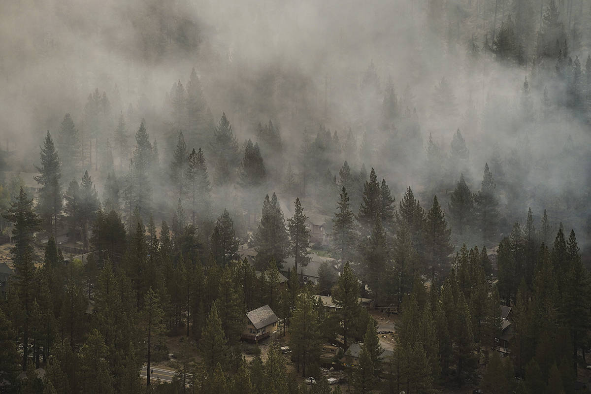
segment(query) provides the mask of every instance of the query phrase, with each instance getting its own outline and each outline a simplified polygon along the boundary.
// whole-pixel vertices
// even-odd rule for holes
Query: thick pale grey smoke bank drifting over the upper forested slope
[[[284,155],[264,157],[271,183],[256,190],[254,201],[278,190],[288,162],[303,171],[301,145],[321,126],[337,131],[343,143],[350,129],[355,149],[331,154],[327,170],[333,175],[345,159],[355,171],[365,164],[386,178],[395,196],[410,185],[429,201],[433,190],[451,193],[460,172],[478,190],[488,162],[499,184],[519,188],[517,197],[509,187],[500,196],[508,206],[506,228],[523,220],[530,206],[538,218],[547,209],[584,243],[591,185],[584,110],[561,105],[567,98],[553,75],[554,61],[534,67],[527,48],[525,64],[504,63],[486,49],[509,15],[524,11],[508,1],[496,12],[495,2],[447,3],[438,16],[431,2],[415,0],[3,2],[1,146],[17,151],[20,164],[12,170],[33,172],[31,158],[38,157],[44,133],[57,133],[65,113],[82,134],[87,131],[85,103],[98,89],[112,114],[98,144],[112,139],[119,113],[130,135],[145,119],[166,168],[174,146],[167,95],[177,81],[186,87],[194,68],[213,121],[225,112],[241,146],[256,139],[259,122],[271,119],[280,128]],[[532,32],[540,29],[537,4],[531,2]],[[591,9],[580,5],[582,12],[563,20],[579,22],[570,56],[584,69]],[[395,114],[386,114],[388,93]],[[457,129],[469,151],[459,162],[448,159]],[[428,161],[430,136],[431,148],[440,149],[437,162]],[[212,155],[209,145],[203,149]],[[434,184],[438,171],[447,178]],[[242,191],[232,190],[216,209],[243,201]],[[167,200],[159,190],[154,194],[156,201]],[[319,205],[311,204],[313,210]]]

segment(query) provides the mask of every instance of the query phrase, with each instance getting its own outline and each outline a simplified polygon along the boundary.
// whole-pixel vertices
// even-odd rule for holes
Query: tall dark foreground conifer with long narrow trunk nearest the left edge
[[[35,265],[33,262],[33,233],[41,224],[37,214],[33,211],[33,200],[30,200],[24,190],[20,190],[18,197],[10,204],[8,213],[3,215],[9,222],[14,223],[10,250],[15,271],[15,287],[20,308],[22,308],[22,370],[27,370],[28,340],[30,335],[30,315],[33,308],[33,279]]]

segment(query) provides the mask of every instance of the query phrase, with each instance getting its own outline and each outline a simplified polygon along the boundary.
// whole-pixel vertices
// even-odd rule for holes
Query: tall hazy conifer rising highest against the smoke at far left
[[[37,211],[43,220],[44,230],[55,236],[62,208],[61,163],[49,132],[41,148],[41,167],[35,168],[40,172],[40,175],[35,176],[35,181],[41,186]]]

